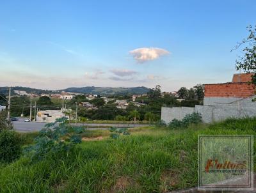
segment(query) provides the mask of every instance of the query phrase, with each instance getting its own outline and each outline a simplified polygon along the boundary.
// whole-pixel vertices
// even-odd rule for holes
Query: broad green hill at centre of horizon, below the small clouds
[[[102,88],[94,86],[86,86],[82,88],[67,88],[61,91],[72,93],[84,93],[93,95],[142,95],[149,91],[144,86],[132,87],[132,88]]]

